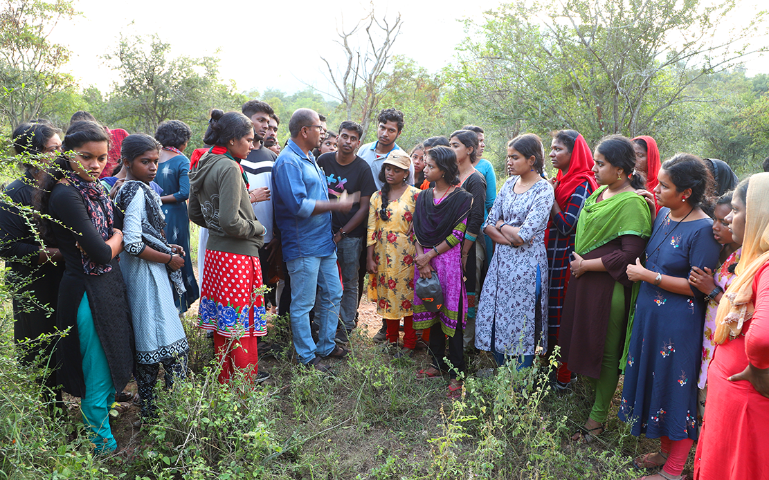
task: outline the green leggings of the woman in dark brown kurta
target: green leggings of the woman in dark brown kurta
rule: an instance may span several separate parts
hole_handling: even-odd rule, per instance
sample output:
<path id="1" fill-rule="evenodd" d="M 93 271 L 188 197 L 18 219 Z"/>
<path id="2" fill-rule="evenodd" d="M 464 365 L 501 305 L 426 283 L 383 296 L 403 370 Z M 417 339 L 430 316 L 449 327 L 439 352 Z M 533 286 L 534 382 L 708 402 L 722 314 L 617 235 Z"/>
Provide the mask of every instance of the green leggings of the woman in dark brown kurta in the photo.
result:
<path id="1" fill-rule="evenodd" d="M 590 418 L 603 423 L 609 414 L 611 398 L 617 390 L 620 381 L 619 362 L 622 355 L 624 340 L 625 315 L 624 286 L 614 283 L 614 293 L 611 294 L 611 310 L 606 329 L 604 343 L 604 359 L 601 361 L 601 375 L 598 379 L 588 379 L 595 388 L 595 401 L 590 412 Z"/>

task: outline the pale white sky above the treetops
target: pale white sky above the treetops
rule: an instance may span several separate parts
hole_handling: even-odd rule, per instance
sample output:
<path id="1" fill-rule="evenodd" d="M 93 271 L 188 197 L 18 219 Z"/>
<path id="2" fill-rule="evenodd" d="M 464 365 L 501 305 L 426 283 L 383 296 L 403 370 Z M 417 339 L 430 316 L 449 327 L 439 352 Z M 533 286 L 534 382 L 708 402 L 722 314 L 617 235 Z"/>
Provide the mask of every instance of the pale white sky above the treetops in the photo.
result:
<path id="1" fill-rule="evenodd" d="M 738 12 L 752 15 L 759 0 L 746 0 Z M 481 20 L 482 12 L 501 0 L 378 0 L 378 16 L 392 19 L 401 12 L 401 35 L 394 54 L 407 55 L 428 71 L 438 71 L 454 61 L 455 46 L 464 38 L 462 18 Z M 82 18 L 58 25 L 54 41 L 68 45 L 72 59 L 68 69 L 83 85 L 108 91 L 117 78 L 101 58 L 117 45 L 119 35 L 148 35 L 157 32 L 172 45 L 171 55 L 202 57 L 215 55 L 220 76 L 232 79 L 238 91 L 278 88 L 292 93 L 311 84 L 330 91 L 324 55 L 332 65 L 344 60 L 335 44 L 341 22 L 351 27 L 370 4 L 364 0 L 283 0 L 245 2 L 180 2 L 179 0 L 132 0 L 118 10 L 116 4 L 77 0 Z M 734 15 L 739 18 L 741 15 Z M 729 22 L 724 22 L 728 24 Z M 360 37 L 362 38 L 362 36 Z M 764 41 L 766 39 L 757 41 Z M 769 59 L 747 62 L 748 74 L 769 72 Z M 302 82 L 305 82 L 303 84 Z"/>

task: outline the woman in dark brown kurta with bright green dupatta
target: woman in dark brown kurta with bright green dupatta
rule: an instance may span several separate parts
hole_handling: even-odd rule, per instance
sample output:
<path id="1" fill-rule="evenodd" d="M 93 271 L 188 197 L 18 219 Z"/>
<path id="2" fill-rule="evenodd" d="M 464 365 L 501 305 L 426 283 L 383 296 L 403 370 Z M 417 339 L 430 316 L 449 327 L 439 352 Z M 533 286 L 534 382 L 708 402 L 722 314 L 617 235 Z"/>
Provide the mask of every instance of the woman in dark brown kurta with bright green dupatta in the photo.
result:
<path id="1" fill-rule="evenodd" d="M 573 440 L 590 441 L 604 431 L 611 397 L 619 381 L 620 357 L 631 306 L 633 283 L 626 268 L 635 263 L 651 233 L 651 210 L 635 193 L 644 180 L 634 171 L 631 142 L 605 137 L 595 149 L 601 185 L 585 201 L 561 316 L 561 358 L 572 372 L 588 376 L 595 402 L 584 428 Z"/>

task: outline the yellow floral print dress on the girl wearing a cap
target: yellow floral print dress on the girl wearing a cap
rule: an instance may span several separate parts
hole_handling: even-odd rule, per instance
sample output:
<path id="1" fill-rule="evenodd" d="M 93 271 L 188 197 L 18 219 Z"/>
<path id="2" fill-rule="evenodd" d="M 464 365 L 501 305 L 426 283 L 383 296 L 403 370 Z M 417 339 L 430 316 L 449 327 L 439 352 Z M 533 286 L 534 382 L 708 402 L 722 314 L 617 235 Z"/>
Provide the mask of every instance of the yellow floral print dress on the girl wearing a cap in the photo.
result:
<path id="1" fill-rule="evenodd" d="M 377 303 L 377 313 L 384 319 L 401 319 L 412 313 L 416 249 L 411 222 L 420 191 L 406 187 L 398 200 L 389 202 L 387 221 L 379 214 L 381 190 L 371 195 L 366 247 L 374 246 L 378 273 L 370 275 L 371 288 L 376 292 L 372 300 Z"/>

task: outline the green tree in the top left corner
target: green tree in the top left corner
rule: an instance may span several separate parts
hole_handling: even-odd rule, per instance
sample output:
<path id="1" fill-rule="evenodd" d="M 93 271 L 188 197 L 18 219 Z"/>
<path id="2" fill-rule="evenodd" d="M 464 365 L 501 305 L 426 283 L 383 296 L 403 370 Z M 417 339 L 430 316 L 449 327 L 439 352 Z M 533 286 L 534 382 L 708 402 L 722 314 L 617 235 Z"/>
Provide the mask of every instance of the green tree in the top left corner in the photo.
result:
<path id="1" fill-rule="evenodd" d="M 49 112 L 53 95 L 71 88 L 60 69 L 69 59 L 65 45 L 49 39 L 58 22 L 78 15 L 71 0 L 5 0 L 0 12 L 0 115 L 18 126 Z"/>

